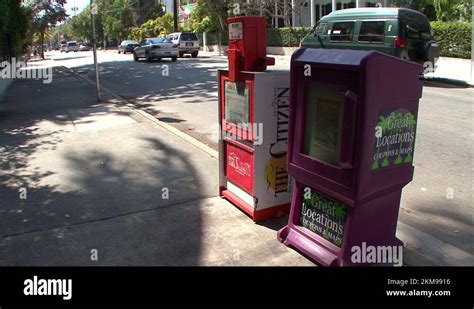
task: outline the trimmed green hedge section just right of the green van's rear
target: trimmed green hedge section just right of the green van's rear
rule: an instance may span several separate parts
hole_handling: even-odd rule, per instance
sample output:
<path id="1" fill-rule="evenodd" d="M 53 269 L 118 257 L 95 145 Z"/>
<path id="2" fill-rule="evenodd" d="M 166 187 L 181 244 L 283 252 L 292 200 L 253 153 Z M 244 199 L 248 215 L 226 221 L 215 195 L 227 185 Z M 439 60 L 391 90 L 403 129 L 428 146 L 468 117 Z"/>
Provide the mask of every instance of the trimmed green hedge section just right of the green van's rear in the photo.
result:
<path id="1" fill-rule="evenodd" d="M 468 22 L 432 22 L 441 57 L 471 58 L 472 25 Z"/>

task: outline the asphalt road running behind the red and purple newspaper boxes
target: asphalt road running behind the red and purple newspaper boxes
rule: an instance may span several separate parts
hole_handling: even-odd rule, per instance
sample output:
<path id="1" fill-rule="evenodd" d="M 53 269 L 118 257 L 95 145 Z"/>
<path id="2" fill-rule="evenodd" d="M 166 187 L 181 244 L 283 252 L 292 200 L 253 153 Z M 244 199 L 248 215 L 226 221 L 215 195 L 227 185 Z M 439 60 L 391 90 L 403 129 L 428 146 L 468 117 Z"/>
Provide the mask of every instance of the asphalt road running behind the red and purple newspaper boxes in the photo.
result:
<path id="1" fill-rule="evenodd" d="M 93 79 L 92 54 L 51 54 L 51 62 Z M 133 62 L 132 55 L 100 52 L 102 85 L 216 148 L 216 69 L 225 57 L 204 55 L 177 62 Z M 288 68 L 288 58 L 277 58 Z M 168 74 L 166 73 L 168 70 Z M 472 88 L 425 82 L 420 102 L 415 178 L 403 191 L 400 220 L 474 254 Z"/>

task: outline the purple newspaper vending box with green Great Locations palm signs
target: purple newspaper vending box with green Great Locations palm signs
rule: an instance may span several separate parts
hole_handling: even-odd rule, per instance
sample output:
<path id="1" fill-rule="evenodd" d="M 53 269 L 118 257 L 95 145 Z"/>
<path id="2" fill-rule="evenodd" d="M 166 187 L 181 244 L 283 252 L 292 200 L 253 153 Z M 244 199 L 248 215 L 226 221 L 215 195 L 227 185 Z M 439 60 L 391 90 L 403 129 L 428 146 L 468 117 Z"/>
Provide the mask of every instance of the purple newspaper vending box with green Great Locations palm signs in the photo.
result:
<path id="1" fill-rule="evenodd" d="M 288 171 L 296 182 L 284 244 L 325 266 L 363 265 L 355 246 L 401 246 L 413 179 L 422 66 L 374 51 L 299 49 L 291 60 Z"/>

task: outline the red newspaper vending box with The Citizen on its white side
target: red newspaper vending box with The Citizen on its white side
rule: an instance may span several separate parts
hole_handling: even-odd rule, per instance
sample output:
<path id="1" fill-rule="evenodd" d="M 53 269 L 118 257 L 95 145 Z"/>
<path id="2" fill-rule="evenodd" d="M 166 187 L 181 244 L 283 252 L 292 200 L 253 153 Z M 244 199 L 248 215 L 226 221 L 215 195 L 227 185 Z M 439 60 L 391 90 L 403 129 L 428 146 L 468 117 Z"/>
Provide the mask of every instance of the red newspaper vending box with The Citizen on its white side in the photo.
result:
<path id="1" fill-rule="evenodd" d="M 220 195 L 254 221 L 289 211 L 288 71 L 269 70 L 263 17 L 229 18 L 229 70 L 219 70 Z"/>

